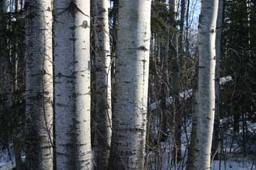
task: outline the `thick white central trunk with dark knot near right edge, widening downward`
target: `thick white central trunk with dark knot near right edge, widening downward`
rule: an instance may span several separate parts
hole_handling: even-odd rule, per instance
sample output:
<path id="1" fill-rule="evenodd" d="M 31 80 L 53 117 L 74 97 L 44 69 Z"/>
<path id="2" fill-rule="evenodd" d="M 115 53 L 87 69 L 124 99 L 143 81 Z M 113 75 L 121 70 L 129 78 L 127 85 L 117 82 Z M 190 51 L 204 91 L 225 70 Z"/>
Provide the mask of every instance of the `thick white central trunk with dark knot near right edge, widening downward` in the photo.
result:
<path id="1" fill-rule="evenodd" d="M 151 1 L 119 0 L 108 169 L 144 169 Z"/>

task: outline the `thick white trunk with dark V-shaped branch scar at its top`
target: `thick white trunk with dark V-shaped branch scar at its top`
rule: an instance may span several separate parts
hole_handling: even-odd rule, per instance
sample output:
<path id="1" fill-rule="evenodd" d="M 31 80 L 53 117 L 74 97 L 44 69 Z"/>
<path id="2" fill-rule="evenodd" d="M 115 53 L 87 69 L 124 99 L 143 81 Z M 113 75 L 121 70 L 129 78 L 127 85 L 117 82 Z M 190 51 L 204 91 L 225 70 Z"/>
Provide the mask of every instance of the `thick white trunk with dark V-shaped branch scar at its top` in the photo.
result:
<path id="1" fill-rule="evenodd" d="M 57 169 L 91 169 L 90 0 L 55 0 Z"/>

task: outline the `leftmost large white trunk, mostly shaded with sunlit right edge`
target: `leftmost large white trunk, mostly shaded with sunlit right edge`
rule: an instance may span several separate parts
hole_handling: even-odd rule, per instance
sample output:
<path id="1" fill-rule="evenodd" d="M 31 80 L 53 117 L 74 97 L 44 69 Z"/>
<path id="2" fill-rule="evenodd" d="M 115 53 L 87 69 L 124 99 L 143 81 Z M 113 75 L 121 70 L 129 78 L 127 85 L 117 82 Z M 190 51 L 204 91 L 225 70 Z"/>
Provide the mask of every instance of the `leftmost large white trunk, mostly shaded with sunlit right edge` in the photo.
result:
<path id="1" fill-rule="evenodd" d="M 53 169 L 51 0 L 26 0 L 27 169 Z"/>

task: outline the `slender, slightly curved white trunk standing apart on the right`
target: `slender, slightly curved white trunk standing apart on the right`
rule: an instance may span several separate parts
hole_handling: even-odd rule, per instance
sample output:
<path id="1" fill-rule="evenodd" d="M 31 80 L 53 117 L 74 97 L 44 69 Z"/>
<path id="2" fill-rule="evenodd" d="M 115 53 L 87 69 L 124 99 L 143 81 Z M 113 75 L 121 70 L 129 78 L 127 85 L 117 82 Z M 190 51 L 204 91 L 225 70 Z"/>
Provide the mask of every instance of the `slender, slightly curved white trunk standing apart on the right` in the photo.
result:
<path id="1" fill-rule="evenodd" d="M 189 169 L 210 169 L 210 149 L 213 137 L 215 114 L 215 28 L 218 1 L 204 0 L 199 18 L 199 71 L 197 111 L 193 124 L 196 132 L 193 145 L 192 167 Z"/>

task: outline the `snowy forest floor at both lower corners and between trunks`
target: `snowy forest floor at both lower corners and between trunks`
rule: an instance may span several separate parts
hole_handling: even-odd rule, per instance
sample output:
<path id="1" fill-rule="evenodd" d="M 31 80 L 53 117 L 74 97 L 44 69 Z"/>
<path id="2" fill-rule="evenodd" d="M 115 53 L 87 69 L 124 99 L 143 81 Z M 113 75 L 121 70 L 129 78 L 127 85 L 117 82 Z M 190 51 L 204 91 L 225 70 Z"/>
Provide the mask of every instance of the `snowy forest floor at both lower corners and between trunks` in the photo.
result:
<path id="1" fill-rule="evenodd" d="M 155 118 L 156 120 L 156 118 Z M 212 170 L 256 170 L 256 159 L 253 153 L 256 152 L 256 123 L 251 123 L 250 121 L 246 122 L 247 125 L 247 141 L 246 141 L 246 149 L 247 155 L 244 156 L 242 152 L 242 148 L 240 147 L 242 144 L 242 139 L 233 140 L 233 128 L 232 128 L 232 118 L 225 118 L 225 120 L 220 120 L 220 125 L 225 126 L 223 137 L 222 147 L 218 148 L 218 155 L 220 155 L 220 151 L 222 150 L 222 160 L 214 160 L 212 163 Z M 176 170 L 185 170 L 186 169 L 186 157 L 188 153 L 188 140 L 191 135 L 191 120 L 186 121 L 186 125 L 183 125 L 182 131 L 182 146 L 181 152 L 183 156 L 183 160 L 177 164 Z M 224 128 L 223 128 L 224 129 Z M 157 130 L 157 121 L 154 121 L 154 137 L 156 137 L 158 133 Z M 242 130 L 241 132 L 242 133 Z M 240 136 L 242 136 L 240 134 Z M 173 148 L 171 137 L 169 136 L 165 142 L 160 142 L 159 150 L 160 151 L 149 151 L 148 152 L 148 167 L 152 170 L 174 170 L 174 163 L 171 162 L 171 152 L 169 152 Z M 161 153 L 161 155 L 159 155 Z M 158 157 L 158 159 L 156 159 Z M 25 156 L 22 157 L 25 160 Z M 0 148 L 0 170 L 11 170 L 15 168 L 15 158 L 12 149 L 1 149 Z M 171 167 L 171 168 L 170 168 Z"/>

